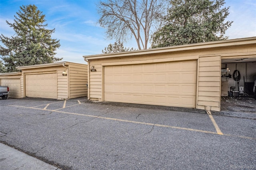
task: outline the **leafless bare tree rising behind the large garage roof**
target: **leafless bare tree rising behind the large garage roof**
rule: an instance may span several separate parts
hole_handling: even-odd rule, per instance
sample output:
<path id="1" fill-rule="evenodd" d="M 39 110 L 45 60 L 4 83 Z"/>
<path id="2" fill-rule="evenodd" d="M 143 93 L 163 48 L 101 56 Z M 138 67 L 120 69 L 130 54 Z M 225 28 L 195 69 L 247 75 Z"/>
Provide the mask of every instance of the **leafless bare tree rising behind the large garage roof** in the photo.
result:
<path id="1" fill-rule="evenodd" d="M 152 29 L 158 26 L 164 0 L 107 0 L 100 1 L 98 23 L 107 28 L 106 37 L 126 41 L 134 37 L 138 49 L 147 49 Z"/>

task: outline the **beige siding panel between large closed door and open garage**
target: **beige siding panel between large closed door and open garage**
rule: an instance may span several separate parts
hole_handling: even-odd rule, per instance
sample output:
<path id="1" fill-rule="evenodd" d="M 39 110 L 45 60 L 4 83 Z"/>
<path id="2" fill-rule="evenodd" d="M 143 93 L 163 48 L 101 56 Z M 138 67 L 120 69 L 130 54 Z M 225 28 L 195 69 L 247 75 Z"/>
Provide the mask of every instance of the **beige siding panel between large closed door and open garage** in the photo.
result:
<path id="1" fill-rule="evenodd" d="M 220 56 L 199 57 L 198 108 L 220 111 Z"/>

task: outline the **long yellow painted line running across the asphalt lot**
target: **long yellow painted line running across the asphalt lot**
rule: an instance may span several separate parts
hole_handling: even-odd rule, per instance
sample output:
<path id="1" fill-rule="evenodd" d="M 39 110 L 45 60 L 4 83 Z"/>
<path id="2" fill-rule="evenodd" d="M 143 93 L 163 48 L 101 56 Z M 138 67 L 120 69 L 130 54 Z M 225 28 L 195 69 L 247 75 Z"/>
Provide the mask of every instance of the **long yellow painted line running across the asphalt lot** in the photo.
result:
<path id="1" fill-rule="evenodd" d="M 76 104 L 76 105 L 79 105 L 79 104 Z M 22 107 L 22 108 L 28 108 L 28 109 L 44 110 L 44 109 L 40 109 L 40 108 L 25 107 L 25 106 L 16 106 L 16 105 L 9 105 L 9 106 Z M 69 106 L 69 107 L 71 107 L 71 106 Z M 223 134 L 222 132 L 220 134 L 218 132 L 211 132 L 211 131 L 206 131 L 206 130 L 198 130 L 198 129 L 184 128 L 184 127 L 174 127 L 174 126 L 170 126 L 170 125 L 160 125 L 160 124 L 137 122 L 137 121 L 128 121 L 128 120 L 124 120 L 124 119 L 115 119 L 115 118 L 101 117 L 101 116 L 94 116 L 94 115 L 84 115 L 84 114 L 80 114 L 80 113 L 70 113 L 70 112 L 57 111 L 57 110 L 48 110 L 48 109 L 46 109 L 46 111 L 54 111 L 54 112 L 57 112 L 57 113 L 65 113 L 65 114 L 70 114 L 70 115 L 79 115 L 79 116 L 93 117 L 93 118 L 106 119 L 106 120 L 112 120 L 112 121 L 121 121 L 121 122 L 135 123 L 135 124 L 141 124 L 141 125 L 151 125 L 151 126 L 156 126 L 156 127 L 175 128 L 175 129 L 180 129 L 180 130 L 189 130 L 189 131 L 194 131 L 194 132 L 203 132 L 203 133 L 218 134 L 218 135 L 223 135 L 223 136 L 230 136 L 230 137 L 238 137 L 238 138 L 246 138 L 246 139 L 250 139 L 250 140 L 256 140 L 256 138 L 249 137 L 249 136 L 240 136 L 240 135 L 234 135 L 234 134 Z"/>

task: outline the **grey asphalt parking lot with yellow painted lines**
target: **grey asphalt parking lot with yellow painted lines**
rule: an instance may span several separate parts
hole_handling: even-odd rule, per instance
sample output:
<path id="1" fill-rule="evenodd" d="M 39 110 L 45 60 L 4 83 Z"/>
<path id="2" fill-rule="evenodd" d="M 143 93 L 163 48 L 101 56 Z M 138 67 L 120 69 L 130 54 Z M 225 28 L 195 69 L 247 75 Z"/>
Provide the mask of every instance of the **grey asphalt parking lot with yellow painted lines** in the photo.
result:
<path id="1" fill-rule="evenodd" d="M 197 110 L 0 100 L 0 141 L 64 170 L 256 168 L 256 120 Z"/>

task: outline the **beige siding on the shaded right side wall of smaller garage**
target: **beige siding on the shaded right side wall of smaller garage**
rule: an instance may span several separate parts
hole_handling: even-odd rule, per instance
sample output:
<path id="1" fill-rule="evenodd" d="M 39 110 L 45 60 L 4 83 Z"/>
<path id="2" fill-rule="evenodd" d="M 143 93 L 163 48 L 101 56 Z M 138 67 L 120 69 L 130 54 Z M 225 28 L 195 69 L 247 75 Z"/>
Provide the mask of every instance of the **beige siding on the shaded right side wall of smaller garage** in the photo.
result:
<path id="1" fill-rule="evenodd" d="M 69 63 L 69 98 L 87 96 L 88 72 L 87 65 Z"/>

